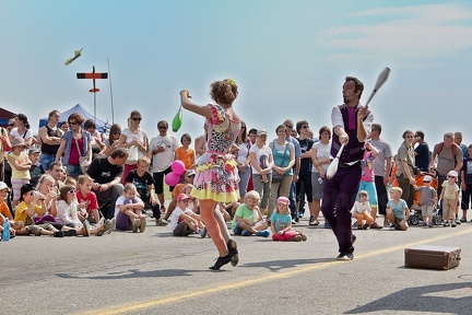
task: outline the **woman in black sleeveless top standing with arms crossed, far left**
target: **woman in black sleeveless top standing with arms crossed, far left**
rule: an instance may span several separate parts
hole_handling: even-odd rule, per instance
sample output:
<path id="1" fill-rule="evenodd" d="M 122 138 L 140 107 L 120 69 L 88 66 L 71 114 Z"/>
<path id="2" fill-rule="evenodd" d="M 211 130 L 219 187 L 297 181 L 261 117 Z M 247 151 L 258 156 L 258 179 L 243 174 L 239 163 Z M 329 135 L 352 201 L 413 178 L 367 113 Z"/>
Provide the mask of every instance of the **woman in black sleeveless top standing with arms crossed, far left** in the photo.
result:
<path id="1" fill-rule="evenodd" d="M 56 161 L 56 154 L 60 147 L 63 132 L 57 124 L 60 119 L 59 110 L 52 110 L 48 115 L 48 124 L 39 128 L 39 139 L 42 142 L 39 163 L 44 171 L 49 171 L 49 165 Z"/>

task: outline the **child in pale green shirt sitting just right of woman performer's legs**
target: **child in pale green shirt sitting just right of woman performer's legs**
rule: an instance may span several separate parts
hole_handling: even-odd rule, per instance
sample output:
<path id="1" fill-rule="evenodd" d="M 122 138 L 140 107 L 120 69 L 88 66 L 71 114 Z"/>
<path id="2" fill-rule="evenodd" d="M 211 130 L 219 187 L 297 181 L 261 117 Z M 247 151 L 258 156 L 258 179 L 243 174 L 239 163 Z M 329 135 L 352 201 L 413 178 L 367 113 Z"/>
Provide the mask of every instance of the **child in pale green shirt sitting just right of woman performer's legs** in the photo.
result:
<path id="1" fill-rule="evenodd" d="M 258 235 L 268 237 L 270 235 L 267 222 L 263 220 L 259 210 L 260 195 L 256 190 L 248 191 L 245 202 L 241 203 L 233 218 L 232 229 L 236 235 L 250 236 Z"/>

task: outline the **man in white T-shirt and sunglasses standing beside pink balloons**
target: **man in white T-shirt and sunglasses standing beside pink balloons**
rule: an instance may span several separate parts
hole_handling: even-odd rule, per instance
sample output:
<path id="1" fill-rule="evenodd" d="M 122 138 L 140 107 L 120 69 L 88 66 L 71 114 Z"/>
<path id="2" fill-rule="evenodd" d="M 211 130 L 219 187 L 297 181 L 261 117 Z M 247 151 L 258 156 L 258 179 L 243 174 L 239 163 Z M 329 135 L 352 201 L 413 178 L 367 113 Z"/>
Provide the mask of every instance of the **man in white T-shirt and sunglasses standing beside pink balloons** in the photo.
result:
<path id="1" fill-rule="evenodd" d="M 160 135 L 151 139 L 149 152 L 149 158 L 153 159 L 154 189 L 161 203 L 161 212 L 165 212 L 164 176 L 172 172 L 170 165 L 175 160 L 175 150 L 178 148 L 177 138 L 168 135 L 167 129 L 167 121 L 161 120 L 157 122 Z M 172 190 L 173 187 L 170 187 Z"/>

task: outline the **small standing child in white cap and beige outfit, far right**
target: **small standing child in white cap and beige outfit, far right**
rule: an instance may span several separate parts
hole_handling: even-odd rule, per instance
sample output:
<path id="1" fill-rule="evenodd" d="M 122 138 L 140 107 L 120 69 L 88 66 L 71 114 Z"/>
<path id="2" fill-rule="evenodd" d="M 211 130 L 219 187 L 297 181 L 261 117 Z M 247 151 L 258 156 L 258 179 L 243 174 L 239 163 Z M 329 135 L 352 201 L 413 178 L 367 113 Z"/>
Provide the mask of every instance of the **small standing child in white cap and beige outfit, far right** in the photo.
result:
<path id="1" fill-rule="evenodd" d="M 459 202 L 459 186 L 456 184 L 457 172 L 450 171 L 447 179 L 441 185 L 440 198 L 442 199 L 442 220 L 444 226 L 456 228 L 456 209 Z"/>

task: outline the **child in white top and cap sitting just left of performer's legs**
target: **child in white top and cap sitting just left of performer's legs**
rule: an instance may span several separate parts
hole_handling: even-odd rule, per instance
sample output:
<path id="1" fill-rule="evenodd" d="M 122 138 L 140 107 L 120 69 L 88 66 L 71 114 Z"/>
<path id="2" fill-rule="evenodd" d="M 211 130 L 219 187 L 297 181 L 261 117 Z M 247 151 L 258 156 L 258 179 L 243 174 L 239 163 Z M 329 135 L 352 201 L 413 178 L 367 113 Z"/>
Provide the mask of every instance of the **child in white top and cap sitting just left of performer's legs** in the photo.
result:
<path id="1" fill-rule="evenodd" d="M 187 194 L 177 195 L 177 207 L 170 218 L 170 232 L 174 236 L 188 236 L 193 232 L 200 234 L 202 238 L 206 236 L 206 228 L 201 221 L 201 217 L 189 208 L 192 199 Z"/>

